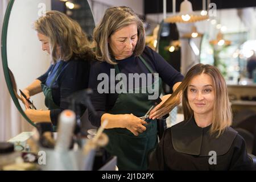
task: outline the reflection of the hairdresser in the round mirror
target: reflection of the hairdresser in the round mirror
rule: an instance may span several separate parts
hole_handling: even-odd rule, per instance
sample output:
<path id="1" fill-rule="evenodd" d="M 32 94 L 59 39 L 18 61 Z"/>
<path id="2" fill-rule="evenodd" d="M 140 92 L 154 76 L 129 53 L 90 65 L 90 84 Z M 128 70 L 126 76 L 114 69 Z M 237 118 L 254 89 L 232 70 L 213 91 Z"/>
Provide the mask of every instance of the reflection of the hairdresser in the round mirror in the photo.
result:
<path id="1" fill-rule="evenodd" d="M 30 109 L 22 97 L 25 113 L 32 122 L 51 122 L 56 126 L 58 115 L 69 107 L 65 98 L 88 88 L 90 61 L 94 56 L 80 25 L 59 11 L 48 11 L 34 22 L 34 29 L 42 50 L 51 56 L 51 65 L 22 92 L 27 99 L 43 92 L 48 110 Z"/>

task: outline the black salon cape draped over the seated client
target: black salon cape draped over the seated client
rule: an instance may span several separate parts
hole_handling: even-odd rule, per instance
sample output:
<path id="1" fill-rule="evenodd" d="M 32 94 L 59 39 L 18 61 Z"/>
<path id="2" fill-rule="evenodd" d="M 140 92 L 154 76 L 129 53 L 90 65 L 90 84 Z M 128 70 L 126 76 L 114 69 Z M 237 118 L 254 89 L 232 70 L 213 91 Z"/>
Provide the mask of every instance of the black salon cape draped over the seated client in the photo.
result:
<path id="1" fill-rule="evenodd" d="M 210 137 L 210 126 L 201 128 L 191 119 L 168 128 L 151 154 L 149 169 L 251 170 L 245 140 L 231 127 L 217 139 Z M 216 164 L 210 151 L 216 152 Z"/>

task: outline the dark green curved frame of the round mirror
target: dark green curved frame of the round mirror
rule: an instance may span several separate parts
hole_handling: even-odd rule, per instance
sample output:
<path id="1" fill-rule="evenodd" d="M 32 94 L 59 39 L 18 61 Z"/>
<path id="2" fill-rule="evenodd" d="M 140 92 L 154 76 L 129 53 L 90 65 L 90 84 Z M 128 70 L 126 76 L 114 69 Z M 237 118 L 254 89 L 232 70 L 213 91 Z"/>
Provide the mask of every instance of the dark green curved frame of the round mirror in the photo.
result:
<path id="1" fill-rule="evenodd" d="M 11 14 L 11 9 L 13 8 L 13 4 L 14 4 L 15 0 L 10 0 L 7 9 L 6 9 L 6 13 L 5 13 L 5 18 L 3 19 L 3 27 L 2 27 L 2 42 L 1 42 L 1 51 L 2 51 L 2 65 L 3 65 L 3 73 L 5 75 L 5 81 L 7 84 L 7 88 L 9 90 L 9 93 L 11 95 L 11 98 L 14 101 L 15 106 L 17 107 L 17 109 L 19 110 L 20 114 L 22 114 L 22 116 L 32 125 L 35 126 L 35 123 L 32 122 L 27 115 L 24 113 L 22 107 L 19 104 L 18 98 L 16 98 L 14 90 L 13 90 L 13 83 L 11 82 L 11 77 L 10 77 L 10 73 L 9 73 L 9 67 L 8 67 L 8 63 L 7 63 L 7 30 L 8 30 L 8 24 L 9 24 L 9 18 L 10 18 L 10 14 Z"/>

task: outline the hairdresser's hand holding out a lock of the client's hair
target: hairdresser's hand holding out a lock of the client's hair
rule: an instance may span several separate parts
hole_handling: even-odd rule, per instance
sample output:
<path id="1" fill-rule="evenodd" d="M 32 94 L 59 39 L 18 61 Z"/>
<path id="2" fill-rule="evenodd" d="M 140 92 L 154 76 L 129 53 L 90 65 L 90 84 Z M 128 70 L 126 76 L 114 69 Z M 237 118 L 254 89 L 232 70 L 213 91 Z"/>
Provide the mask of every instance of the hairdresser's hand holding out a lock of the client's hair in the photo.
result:
<path id="1" fill-rule="evenodd" d="M 170 111 L 174 109 L 175 106 L 179 105 L 179 97 L 168 100 L 169 97 L 171 97 L 171 94 L 162 97 L 162 102 L 160 102 L 160 104 L 156 105 L 154 109 L 151 110 L 149 117 L 150 119 L 162 118 L 164 115 L 170 113 Z"/>

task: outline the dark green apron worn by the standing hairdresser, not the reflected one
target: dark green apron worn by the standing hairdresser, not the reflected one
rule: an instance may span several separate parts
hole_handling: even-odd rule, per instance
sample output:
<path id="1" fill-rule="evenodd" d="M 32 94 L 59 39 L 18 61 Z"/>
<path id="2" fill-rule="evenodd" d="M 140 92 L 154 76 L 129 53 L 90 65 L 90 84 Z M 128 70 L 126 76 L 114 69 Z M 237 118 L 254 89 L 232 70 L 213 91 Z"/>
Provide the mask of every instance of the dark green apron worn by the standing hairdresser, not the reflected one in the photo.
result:
<path id="1" fill-rule="evenodd" d="M 143 57 L 139 56 L 141 61 L 146 65 L 148 71 L 154 76 L 154 72 Z M 119 73 L 119 68 L 115 66 L 115 72 Z M 154 83 L 150 86 L 154 88 L 155 83 L 159 81 L 159 96 L 161 94 L 161 79 L 154 79 Z M 136 89 L 146 89 L 147 86 L 141 88 L 135 88 L 129 93 L 118 94 L 117 101 L 111 110 L 108 111 L 110 114 L 131 114 L 133 113 L 137 117 L 142 117 L 147 113 L 152 105 L 154 105 L 154 100 L 149 100 L 149 93 L 140 92 L 135 93 Z M 159 97 L 158 96 L 158 97 Z M 147 170 L 147 160 L 148 154 L 154 150 L 156 144 L 158 144 L 157 138 L 157 123 L 156 119 L 151 120 L 146 119 L 148 122 L 146 126 L 146 131 L 139 133 L 135 136 L 130 130 L 122 128 L 105 129 L 104 132 L 109 137 L 108 146 L 106 150 L 117 156 L 117 167 L 119 170 Z"/>

